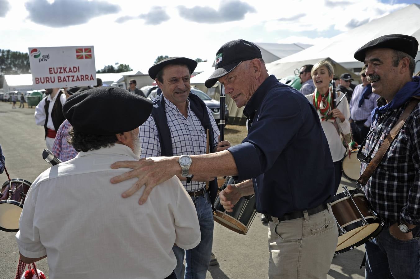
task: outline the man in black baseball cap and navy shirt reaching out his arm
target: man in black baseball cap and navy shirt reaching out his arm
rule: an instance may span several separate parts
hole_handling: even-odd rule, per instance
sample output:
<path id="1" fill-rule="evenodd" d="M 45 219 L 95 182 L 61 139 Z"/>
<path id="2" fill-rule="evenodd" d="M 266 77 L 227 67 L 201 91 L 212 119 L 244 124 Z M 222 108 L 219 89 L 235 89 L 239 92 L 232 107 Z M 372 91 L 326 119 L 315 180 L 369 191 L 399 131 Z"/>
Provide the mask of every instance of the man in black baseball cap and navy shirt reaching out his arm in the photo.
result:
<path id="1" fill-rule="evenodd" d="M 315 107 L 298 90 L 268 75 L 255 44 L 230 41 L 216 54 L 215 71 L 205 85 L 210 88 L 219 80 L 236 106 L 245 106 L 248 136 L 228 150 L 191 156 L 188 173 L 239 175 L 243 182 L 220 192 L 229 211 L 241 196 L 256 195 L 258 212 L 269 220 L 270 278 L 325 278 L 338 230 L 329 204 L 335 194 L 334 166 Z M 112 182 L 139 177 L 123 196 L 145 184 L 142 203 L 160 180 L 181 174 L 180 158 L 117 162 L 111 167 L 135 170 Z M 142 175 L 145 170 L 149 176 Z"/>

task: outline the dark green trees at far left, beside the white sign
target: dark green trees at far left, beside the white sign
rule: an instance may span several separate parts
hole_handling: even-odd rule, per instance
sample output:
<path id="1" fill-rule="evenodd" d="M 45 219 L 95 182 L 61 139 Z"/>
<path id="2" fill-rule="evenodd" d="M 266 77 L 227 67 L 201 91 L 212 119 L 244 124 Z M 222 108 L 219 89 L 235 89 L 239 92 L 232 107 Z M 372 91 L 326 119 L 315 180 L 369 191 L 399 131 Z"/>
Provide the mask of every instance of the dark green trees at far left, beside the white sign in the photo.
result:
<path id="1" fill-rule="evenodd" d="M 0 49 L 0 88 L 3 87 L 4 75 L 29 74 L 29 54 Z"/>

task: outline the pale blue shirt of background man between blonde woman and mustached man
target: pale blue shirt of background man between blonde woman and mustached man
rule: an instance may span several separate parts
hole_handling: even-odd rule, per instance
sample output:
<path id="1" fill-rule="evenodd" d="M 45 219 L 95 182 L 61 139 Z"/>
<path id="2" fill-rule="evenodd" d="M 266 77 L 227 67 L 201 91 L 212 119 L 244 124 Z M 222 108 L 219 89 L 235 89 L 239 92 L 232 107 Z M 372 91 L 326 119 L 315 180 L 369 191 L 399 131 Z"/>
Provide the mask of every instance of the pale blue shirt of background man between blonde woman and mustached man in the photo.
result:
<path id="1" fill-rule="evenodd" d="M 379 98 L 375 93 L 371 93 L 369 99 L 365 99 L 362 106 L 359 108 L 359 101 L 362 97 L 363 85 L 356 85 L 353 91 L 352 100 L 350 101 L 350 118 L 354 121 L 365 120 L 365 126 L 370 127 L 372 124 L 372 111 L 376 108 L 376 99 Z"/>

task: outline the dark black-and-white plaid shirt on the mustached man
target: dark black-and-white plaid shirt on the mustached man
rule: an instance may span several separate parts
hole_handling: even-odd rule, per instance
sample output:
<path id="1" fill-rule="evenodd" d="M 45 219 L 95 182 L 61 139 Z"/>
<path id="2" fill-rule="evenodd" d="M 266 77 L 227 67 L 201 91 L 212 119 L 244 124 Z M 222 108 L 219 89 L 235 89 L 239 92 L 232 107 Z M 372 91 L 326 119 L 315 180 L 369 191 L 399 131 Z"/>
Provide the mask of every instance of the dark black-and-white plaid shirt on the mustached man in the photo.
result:
<path id="1" fill-rule="evenodd" d="M 373 121 L 365 155 L 373 158 L 399 116 L 407 107 L 389 110 Z M 372 131 L 372 130 L 371 130 Z M 361 172 L 367 163 L 362 163 Z M 420 104 L 415 106 L 381 163 L 365 185 L 365 194 L 381 217 L 420 224 Z"/>

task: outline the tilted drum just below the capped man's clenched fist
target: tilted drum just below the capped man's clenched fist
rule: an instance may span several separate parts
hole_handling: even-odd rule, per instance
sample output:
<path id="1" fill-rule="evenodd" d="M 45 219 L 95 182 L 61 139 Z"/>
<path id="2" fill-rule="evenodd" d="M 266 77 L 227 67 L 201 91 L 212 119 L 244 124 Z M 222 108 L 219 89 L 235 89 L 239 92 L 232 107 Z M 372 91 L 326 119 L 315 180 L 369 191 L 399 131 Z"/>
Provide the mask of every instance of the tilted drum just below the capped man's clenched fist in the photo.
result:
<path id="1" fill-rule="evenodd" d="M 231 176 L 226 178 L 222 189 L 225 189 L 229 184 L 235 184 L 235 181 Z M 255 195 L 241 197 L 235 204 L 233 212 L 227 212 L 223 208 L 223 205 L 220 204 L 219 196 L 216 197 L 214 207 L 216 209 L 213 213 L 215 222 L 218 222 L 220 225 L 241 235 L 247 234 L 252 220 L 254 220 L 255 215 L 257 214 L 257 209 L 255 208 Z"/>

